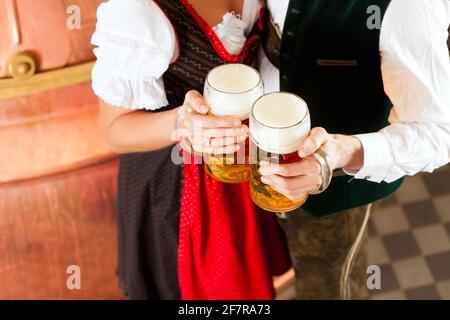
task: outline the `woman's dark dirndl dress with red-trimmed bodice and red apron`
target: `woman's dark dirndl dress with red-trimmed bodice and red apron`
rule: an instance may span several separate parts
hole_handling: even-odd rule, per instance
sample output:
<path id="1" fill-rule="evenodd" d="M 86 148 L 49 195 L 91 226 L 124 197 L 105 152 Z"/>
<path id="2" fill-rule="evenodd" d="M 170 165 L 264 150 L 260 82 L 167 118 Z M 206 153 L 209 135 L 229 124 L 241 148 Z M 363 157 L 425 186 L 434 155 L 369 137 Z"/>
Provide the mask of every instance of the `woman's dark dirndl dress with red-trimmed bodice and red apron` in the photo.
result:
<path id="1" fill-rule="evenodd" d="M 150 0 L 149 0 L 150 1 Z M 203 91 L 209 70 L 255 64 L 258 28 L 231 56 L 186 0 L 155 0 L 180 55 L 164 74 L 169 106 Z M 272 299 L 272 276 L 290 267 L 276 217 L 257 209 L 248 184 L 223 184 L 203 165 L 177 165 L 172 147 L 121 156 L 119 275 L 131 299 Z"/>

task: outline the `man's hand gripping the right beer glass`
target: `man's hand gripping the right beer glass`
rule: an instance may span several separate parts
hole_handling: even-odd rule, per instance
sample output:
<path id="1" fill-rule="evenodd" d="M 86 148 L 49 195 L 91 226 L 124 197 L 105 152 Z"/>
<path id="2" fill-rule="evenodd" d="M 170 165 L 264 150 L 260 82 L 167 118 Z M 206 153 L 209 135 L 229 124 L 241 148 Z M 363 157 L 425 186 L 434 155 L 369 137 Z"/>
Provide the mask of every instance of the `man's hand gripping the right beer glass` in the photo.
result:
<path id="1" fill-rule="evenodd" d="M 302 160 L 290 164 L 261 162 L 261 181 L 289 199 L 304 199 L 322 184 L 321 165 L 312 156 L 319 148 L 328 155 L 331 170 L 357 171 L 363 165 L 364 154 L 358 138 L 330 135 L 323 128 L 314 128 L 298 151 Z"/>

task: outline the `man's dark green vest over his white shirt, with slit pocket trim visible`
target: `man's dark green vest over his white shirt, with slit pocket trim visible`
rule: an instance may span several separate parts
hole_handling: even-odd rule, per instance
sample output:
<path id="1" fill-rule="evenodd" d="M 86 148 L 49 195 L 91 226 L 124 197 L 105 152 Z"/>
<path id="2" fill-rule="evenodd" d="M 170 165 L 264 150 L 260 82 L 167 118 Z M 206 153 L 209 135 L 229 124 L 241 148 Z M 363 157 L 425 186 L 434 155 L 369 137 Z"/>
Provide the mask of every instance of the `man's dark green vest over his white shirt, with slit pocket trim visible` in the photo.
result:
<path id="1" fill-rule="evenodd" d="M 392 103 L 383 89 L 380 29 L 369 29 L 371 5 L 383 19 L 390 0 L 291 0 L 281 44 L 281 90 L 307 103 L 313 127 L 361 134 L 386 127 Z M 372 20 L 370 20 L 372 22 Z M 302 207 L 325 216 L 394 192 L 402 179 L 374 183 L 336 177 Z"/>

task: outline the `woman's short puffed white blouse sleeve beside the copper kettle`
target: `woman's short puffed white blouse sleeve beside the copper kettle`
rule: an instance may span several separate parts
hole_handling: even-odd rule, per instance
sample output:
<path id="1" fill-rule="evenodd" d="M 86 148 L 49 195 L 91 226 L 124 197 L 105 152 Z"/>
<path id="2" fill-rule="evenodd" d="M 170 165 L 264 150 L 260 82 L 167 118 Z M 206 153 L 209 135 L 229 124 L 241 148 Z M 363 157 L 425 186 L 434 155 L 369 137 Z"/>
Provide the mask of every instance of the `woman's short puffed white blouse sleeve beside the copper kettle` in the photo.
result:
<path id="1" fill-rule="evenodd" d="M 153 1 L 101 4 L 91 43 L 92 88 L 103 101 L 128 109 L 168 105 L 162 76 L 177 55 L 176 34 Z"/>

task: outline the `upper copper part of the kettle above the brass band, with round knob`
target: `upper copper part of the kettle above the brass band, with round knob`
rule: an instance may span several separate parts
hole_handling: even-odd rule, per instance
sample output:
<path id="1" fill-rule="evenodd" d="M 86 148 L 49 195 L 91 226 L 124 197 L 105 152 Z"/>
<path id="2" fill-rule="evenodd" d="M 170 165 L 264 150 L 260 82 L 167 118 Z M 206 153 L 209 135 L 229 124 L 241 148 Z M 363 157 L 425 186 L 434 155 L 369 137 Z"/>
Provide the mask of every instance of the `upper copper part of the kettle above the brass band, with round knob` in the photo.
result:
<path id="1" fill-rule="evenodd" d="M 35 73 L 94 59 L 89 38 L 103 0 L 1 0 L 0 78 L 26 79 Z M 79 9 L 80 29 L 67 27 Z"/>

